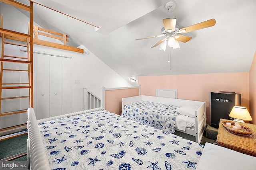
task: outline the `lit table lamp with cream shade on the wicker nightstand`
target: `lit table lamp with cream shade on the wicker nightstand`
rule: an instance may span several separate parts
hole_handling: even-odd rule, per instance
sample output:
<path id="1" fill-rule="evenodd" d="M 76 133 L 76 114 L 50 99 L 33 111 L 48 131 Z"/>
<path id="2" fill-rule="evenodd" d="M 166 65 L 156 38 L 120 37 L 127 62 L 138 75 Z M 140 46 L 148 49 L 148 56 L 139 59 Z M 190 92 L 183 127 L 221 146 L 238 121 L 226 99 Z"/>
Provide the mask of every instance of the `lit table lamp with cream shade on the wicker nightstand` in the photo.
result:
<path id="1" fill-rule="evenodd" d="M 252 117 L 246 107 L 234 106 L 230 111 L 229 117 L 234 118 L 233 121 L 244 123 L 245 121 L 252 121 Z"/>

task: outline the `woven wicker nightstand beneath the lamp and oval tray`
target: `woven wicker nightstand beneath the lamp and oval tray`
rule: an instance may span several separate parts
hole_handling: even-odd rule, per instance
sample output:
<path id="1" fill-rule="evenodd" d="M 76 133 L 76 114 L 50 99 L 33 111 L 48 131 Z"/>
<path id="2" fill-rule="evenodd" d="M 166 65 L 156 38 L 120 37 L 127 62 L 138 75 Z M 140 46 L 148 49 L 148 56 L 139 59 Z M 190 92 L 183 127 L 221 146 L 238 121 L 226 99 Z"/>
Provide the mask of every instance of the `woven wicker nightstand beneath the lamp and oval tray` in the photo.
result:
<path id="1" fill-rule="evenodd" d="M 226 121 L 226 119 L 220 119 L 217 136 L 218 145 L 256 157 L 256 125 L 240 123 L 241 125 L 250 127 L 254 131 L 250 136 L 240 136 L 224 129 L 221 121 Z"/>

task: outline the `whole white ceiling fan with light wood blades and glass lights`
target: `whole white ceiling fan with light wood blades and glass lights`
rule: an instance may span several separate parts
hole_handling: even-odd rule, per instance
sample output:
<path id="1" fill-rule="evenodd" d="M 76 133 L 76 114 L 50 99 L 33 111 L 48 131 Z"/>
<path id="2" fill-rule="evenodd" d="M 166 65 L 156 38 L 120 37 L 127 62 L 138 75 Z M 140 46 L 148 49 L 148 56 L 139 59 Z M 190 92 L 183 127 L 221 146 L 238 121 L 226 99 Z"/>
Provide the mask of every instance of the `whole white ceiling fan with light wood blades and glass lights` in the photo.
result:
<path id="1" fill-rule="evenodd" d="M 176 7 L 176 2 L 174 0 L 166 3 L 165 8 L 166 8 L 166 10 L 169 11 L 169 16 L 170 16 L 170 12 L 173 11 L 175 9 L 175 7 Z M 216 20 L 211 19 L 211 20 L 203 21 L 201 23 L 197 23 L 195 25 L 191 25 L 191 26 L 188 26 L 188 27 L 185 27 L 185 28 L 182 28 L 182 29 L 178 28 L 178 25 L 176 23 L 176 18 L 163 19 L 163 23 L 164 23 L 164 27 L 161 30 L 162 31 L 161 35 L 139 38 L 139 39 L 136 39 L 136 40 L 165 36 L 163 39 L 158 41 L 153 47 L 156 47 L 156 46 L 161 44 L 159 49 L 165 51 L 167 43 L 168 43 L 169 47 L 172 47 L 173 49 L 176 49 L 176 48 L 180 48 L 180 45 L 179 45 L 178 41 L 186 43 L 190 39 L 192 39 L 192 37 L 182 35 L 183 33 L 188 33 L 188 32 L 191 32 L 191 31 L 198 30 L 198 29 L 212 27 L 212 26 L 215 25 Z M 153 47 L 151 47 L 151 48 L 153 48 Z"/>

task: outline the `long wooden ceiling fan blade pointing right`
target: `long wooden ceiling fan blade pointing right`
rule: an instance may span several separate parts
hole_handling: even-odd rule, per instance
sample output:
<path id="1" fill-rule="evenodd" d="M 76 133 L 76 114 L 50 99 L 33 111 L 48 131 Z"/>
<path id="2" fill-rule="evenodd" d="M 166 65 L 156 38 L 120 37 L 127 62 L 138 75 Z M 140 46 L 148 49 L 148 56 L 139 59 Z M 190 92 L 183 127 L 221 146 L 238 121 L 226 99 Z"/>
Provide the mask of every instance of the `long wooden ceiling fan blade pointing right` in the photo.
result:
<path id="1" fill-rule="evenodd" d="M 204 22 L 201 22 L 201 23 L 197 23 L 195 25 L 191 25 L 189 27 L 182 28 L 182 29 L 179 30 L 178 33 L 188 33 L 188 32 L 191 32 L 191 31 L 198 30 L 198 29 L 212 27 L 212 26 L 215 25 L 215 23 L 216 23 L 215 19 L 207 20 L 207 21 L 204 21 Z"/>

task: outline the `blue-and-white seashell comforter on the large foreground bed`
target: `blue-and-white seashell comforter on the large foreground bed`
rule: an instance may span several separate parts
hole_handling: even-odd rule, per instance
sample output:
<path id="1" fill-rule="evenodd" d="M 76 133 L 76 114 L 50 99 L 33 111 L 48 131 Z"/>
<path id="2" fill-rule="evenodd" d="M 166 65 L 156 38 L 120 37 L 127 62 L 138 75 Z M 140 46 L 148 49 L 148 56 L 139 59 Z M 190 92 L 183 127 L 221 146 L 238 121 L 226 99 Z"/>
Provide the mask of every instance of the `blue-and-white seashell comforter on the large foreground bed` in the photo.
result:
<path id="1" fill-rule="evenodd" d="M 204 147 L 106 110 L 38 126 L 52 170 L 196 169 Z"/>

